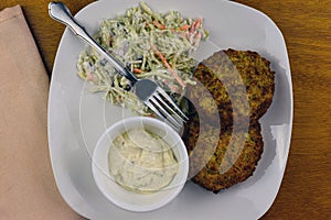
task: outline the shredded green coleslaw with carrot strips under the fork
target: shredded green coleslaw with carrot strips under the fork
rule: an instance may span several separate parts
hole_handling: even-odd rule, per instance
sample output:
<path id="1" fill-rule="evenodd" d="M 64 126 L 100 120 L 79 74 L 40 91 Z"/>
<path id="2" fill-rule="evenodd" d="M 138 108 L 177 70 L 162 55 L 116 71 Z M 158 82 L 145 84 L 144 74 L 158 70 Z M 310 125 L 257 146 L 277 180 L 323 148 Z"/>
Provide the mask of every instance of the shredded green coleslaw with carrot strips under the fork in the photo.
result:
<path id="1" fill-rule="evenodd" d="M 149 78 L 171 92 L 182 94 L 193 85 L 196 62 L 192 53 L 207 37 L 202 19 L 183 18 L 178 11 L 157 13 L 145 2 L 128 9 L 125 14 L 103 21 L 95 40 L 115 55 L 139 79 Z M 87 48 L 81 53 L 77 74 L 93 85 L 92 91 L 105 92 L 105 99 L 139 114 L 151 111 L 130 92 L 130 81 Z"/>

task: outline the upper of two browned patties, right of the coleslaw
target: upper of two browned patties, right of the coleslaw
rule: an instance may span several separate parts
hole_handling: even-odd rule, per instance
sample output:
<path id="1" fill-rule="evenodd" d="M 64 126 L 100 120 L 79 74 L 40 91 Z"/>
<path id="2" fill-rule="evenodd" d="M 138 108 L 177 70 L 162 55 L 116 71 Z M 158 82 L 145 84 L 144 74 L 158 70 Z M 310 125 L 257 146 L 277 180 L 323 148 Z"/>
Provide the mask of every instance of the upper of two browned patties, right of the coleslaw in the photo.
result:
<path id="1" fill-rule="evenodd" d="M 199 64 L 194 77 L 212 94 L 224 127 L 234 120 L 237 124 L 246 118 L 257 120 L 266 113 L 275 91 L 275 73 L 269 65 L 256 52 L 235 50 L 220 51 Z M 190 87 L 188 97 L 197 98 L 201 112 L 211 116 L 205 96 Z"/>

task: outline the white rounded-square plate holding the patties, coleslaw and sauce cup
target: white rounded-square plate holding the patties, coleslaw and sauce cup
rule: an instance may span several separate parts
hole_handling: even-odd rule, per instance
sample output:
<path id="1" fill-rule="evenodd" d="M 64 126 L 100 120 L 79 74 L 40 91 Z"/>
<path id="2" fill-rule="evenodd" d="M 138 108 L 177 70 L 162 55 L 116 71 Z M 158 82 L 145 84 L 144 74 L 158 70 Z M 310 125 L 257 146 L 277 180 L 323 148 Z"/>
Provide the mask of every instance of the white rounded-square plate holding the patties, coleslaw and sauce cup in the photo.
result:
<path id="1" fill-rule="evenodd" d="M 76 14 L 89 33 L 105 18 L 124 13 L 139 0 L 102 0 Z M 108 202 L 92 176 L 90 153 L 105 128 L 127 114 L 88 92 L 76 76 L 78 54 L 85 45 L 66 30 L 54 64 L 49 100 L 49 142 L 53 172 L 65 201 L 88 219 L 258 219 L 274 202 L 286 167 L 292 127 L 292 85 L 281 32 L 264 13 L 231 1 L 147 1 L 156 11 L 179 10 L 204 18 L 210 40 L 221 48 L 252 50 L 271 62 L 276 72 L 274 102 L 260 120 L 265 150 L 246 182 L 218 195 L 188 183 L 170 205 L 147 213 L 128 212 Z M 127 114 L 129 116 L 129 114 Z"/>

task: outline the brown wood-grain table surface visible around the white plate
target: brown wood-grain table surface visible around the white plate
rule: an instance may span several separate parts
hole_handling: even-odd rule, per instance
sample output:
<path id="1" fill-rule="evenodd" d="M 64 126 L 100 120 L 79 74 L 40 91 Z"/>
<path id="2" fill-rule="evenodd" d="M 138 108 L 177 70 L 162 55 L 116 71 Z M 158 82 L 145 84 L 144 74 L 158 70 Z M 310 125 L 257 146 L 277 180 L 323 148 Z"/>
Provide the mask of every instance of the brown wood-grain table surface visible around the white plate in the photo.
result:
<path id="1" fill-rule="evenodd" d="M 64 0 L 75 14 L 92 0 Z M 282 31 L 290 57 L 295 121 L 281 188 L 263 219 L 331 218 L 331 1 L 238 0 L 268 14 Z M 64 26 L 47 14 L 44 0 L 20 3 L 49 73 Z"/>

